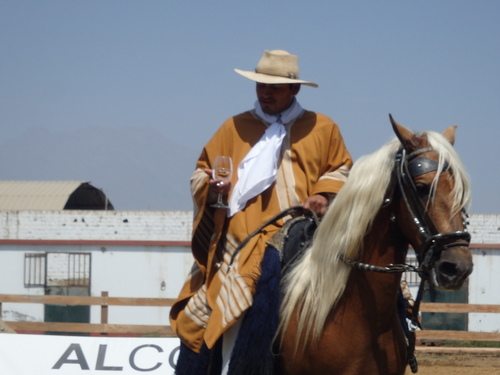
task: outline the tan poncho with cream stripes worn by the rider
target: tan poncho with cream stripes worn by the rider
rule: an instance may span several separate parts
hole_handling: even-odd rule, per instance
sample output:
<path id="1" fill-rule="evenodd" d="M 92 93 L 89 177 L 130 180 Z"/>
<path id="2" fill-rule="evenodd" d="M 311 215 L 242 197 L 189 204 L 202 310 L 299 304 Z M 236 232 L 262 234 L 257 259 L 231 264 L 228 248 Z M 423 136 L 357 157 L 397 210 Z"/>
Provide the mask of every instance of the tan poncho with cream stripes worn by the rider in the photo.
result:
<path id="1" fill-rule="evenodd" d="M 337 125 L 314 112 L 286 124 L 276 182 L 249 200 L 244 210 L 226 217 L 226 210 L 207 204 L 208 176 L 217 155 L 229 155 L 236 167 L 260 139 L 266 124 L 245 112 L 227 120 L 205 146 L 191 178 L 194 200 L 193 269 L 172 307 L 170 321 L 181 340 L 198 352 L 203 341 L 212 348 L 253 301 L 259 265 L 266 241 L 283 225 L 266 227 L 236 256 L 231 257 L 247 236 L 263 222 L 317 193 L 337 193 L 347 177 L 352 160 Z M 237 173 L 233 173 L 234 186 Z"/>

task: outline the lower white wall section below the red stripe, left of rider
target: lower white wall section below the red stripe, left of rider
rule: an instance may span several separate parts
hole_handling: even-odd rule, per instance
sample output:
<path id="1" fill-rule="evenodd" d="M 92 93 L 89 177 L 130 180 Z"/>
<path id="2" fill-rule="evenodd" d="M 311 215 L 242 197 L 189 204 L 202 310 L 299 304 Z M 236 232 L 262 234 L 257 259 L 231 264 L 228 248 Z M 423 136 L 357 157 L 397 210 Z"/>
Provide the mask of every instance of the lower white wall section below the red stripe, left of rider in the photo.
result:
<path id="1" fill-rule="evenodd" d="M 24 254 L 36 252 L 88 252 L 91 253 L 91 295 L 102 291 L 110 297 L 175 298 L 191 269 L 192 256 L 188 247 L 169 246 L 47 246 L 0 245 L 1 294 L 43 295 L 42 287 L 24 287 Z M 165 288 L 162 290 L 162 281 Z M 2 305 L 5 320 L 43 321 L 43 305 Z M 168 307 L 110 306 L 109 323 L 112 324 L 169 324 Z M 91 308 L 91 323 L 100 323 L 100 307 Z"/>

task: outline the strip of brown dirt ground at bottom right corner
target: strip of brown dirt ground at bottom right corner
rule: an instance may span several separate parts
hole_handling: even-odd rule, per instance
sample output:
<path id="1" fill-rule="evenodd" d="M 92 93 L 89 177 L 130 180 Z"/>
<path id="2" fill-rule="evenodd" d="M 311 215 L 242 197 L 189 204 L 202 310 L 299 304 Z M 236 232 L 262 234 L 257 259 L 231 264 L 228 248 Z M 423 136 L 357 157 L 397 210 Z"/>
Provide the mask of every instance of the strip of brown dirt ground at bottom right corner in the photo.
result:
<path id="1" fill-rule="evenodd" d="M 417 375 L 500 374 L 499 353 L 417 353 Z M 412 374 L 408 368 L 405 375 Z"/>

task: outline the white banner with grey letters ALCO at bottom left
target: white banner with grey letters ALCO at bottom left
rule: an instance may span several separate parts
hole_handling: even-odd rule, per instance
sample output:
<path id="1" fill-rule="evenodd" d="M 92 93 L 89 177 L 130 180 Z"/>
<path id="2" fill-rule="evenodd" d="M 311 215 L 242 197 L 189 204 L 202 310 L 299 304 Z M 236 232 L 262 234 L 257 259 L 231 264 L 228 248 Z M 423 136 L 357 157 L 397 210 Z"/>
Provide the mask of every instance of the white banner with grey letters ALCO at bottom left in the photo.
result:
<path id="1" fill-rule="evenodd" d="M 174 374 L 177 338 L 0 334 L 0 374 Z"/>

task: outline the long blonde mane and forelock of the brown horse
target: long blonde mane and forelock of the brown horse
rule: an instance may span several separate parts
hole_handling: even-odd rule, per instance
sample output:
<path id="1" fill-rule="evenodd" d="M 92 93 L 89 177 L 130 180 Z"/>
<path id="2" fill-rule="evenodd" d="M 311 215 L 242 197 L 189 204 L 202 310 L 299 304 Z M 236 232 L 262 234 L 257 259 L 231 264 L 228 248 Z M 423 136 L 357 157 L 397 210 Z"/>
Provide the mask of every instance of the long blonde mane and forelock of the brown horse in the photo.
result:
<path id="1" fill-rule="evenodd" d="M 426 136 L 439 153 L 438 172 L 447 163 L 453 174 L 453 209 L 467 206 L 469 180 L 452 145 L 435 132 L 418 136 Z M 284 336 L 296 311 L 297 347 L 299 341 L 305 345 L 320 338 L 329 312 L 341 298 L 351 271 L 341 257 L 357 259 L 363 250 L 363 237 L 381 208 L 400 146 L 395 138 L 354 164 L 346 184 L 323 217 L 313 245 L 284 278 L 279 333 Z M 435 180 L 433 186 L 436 183 Z"/>

